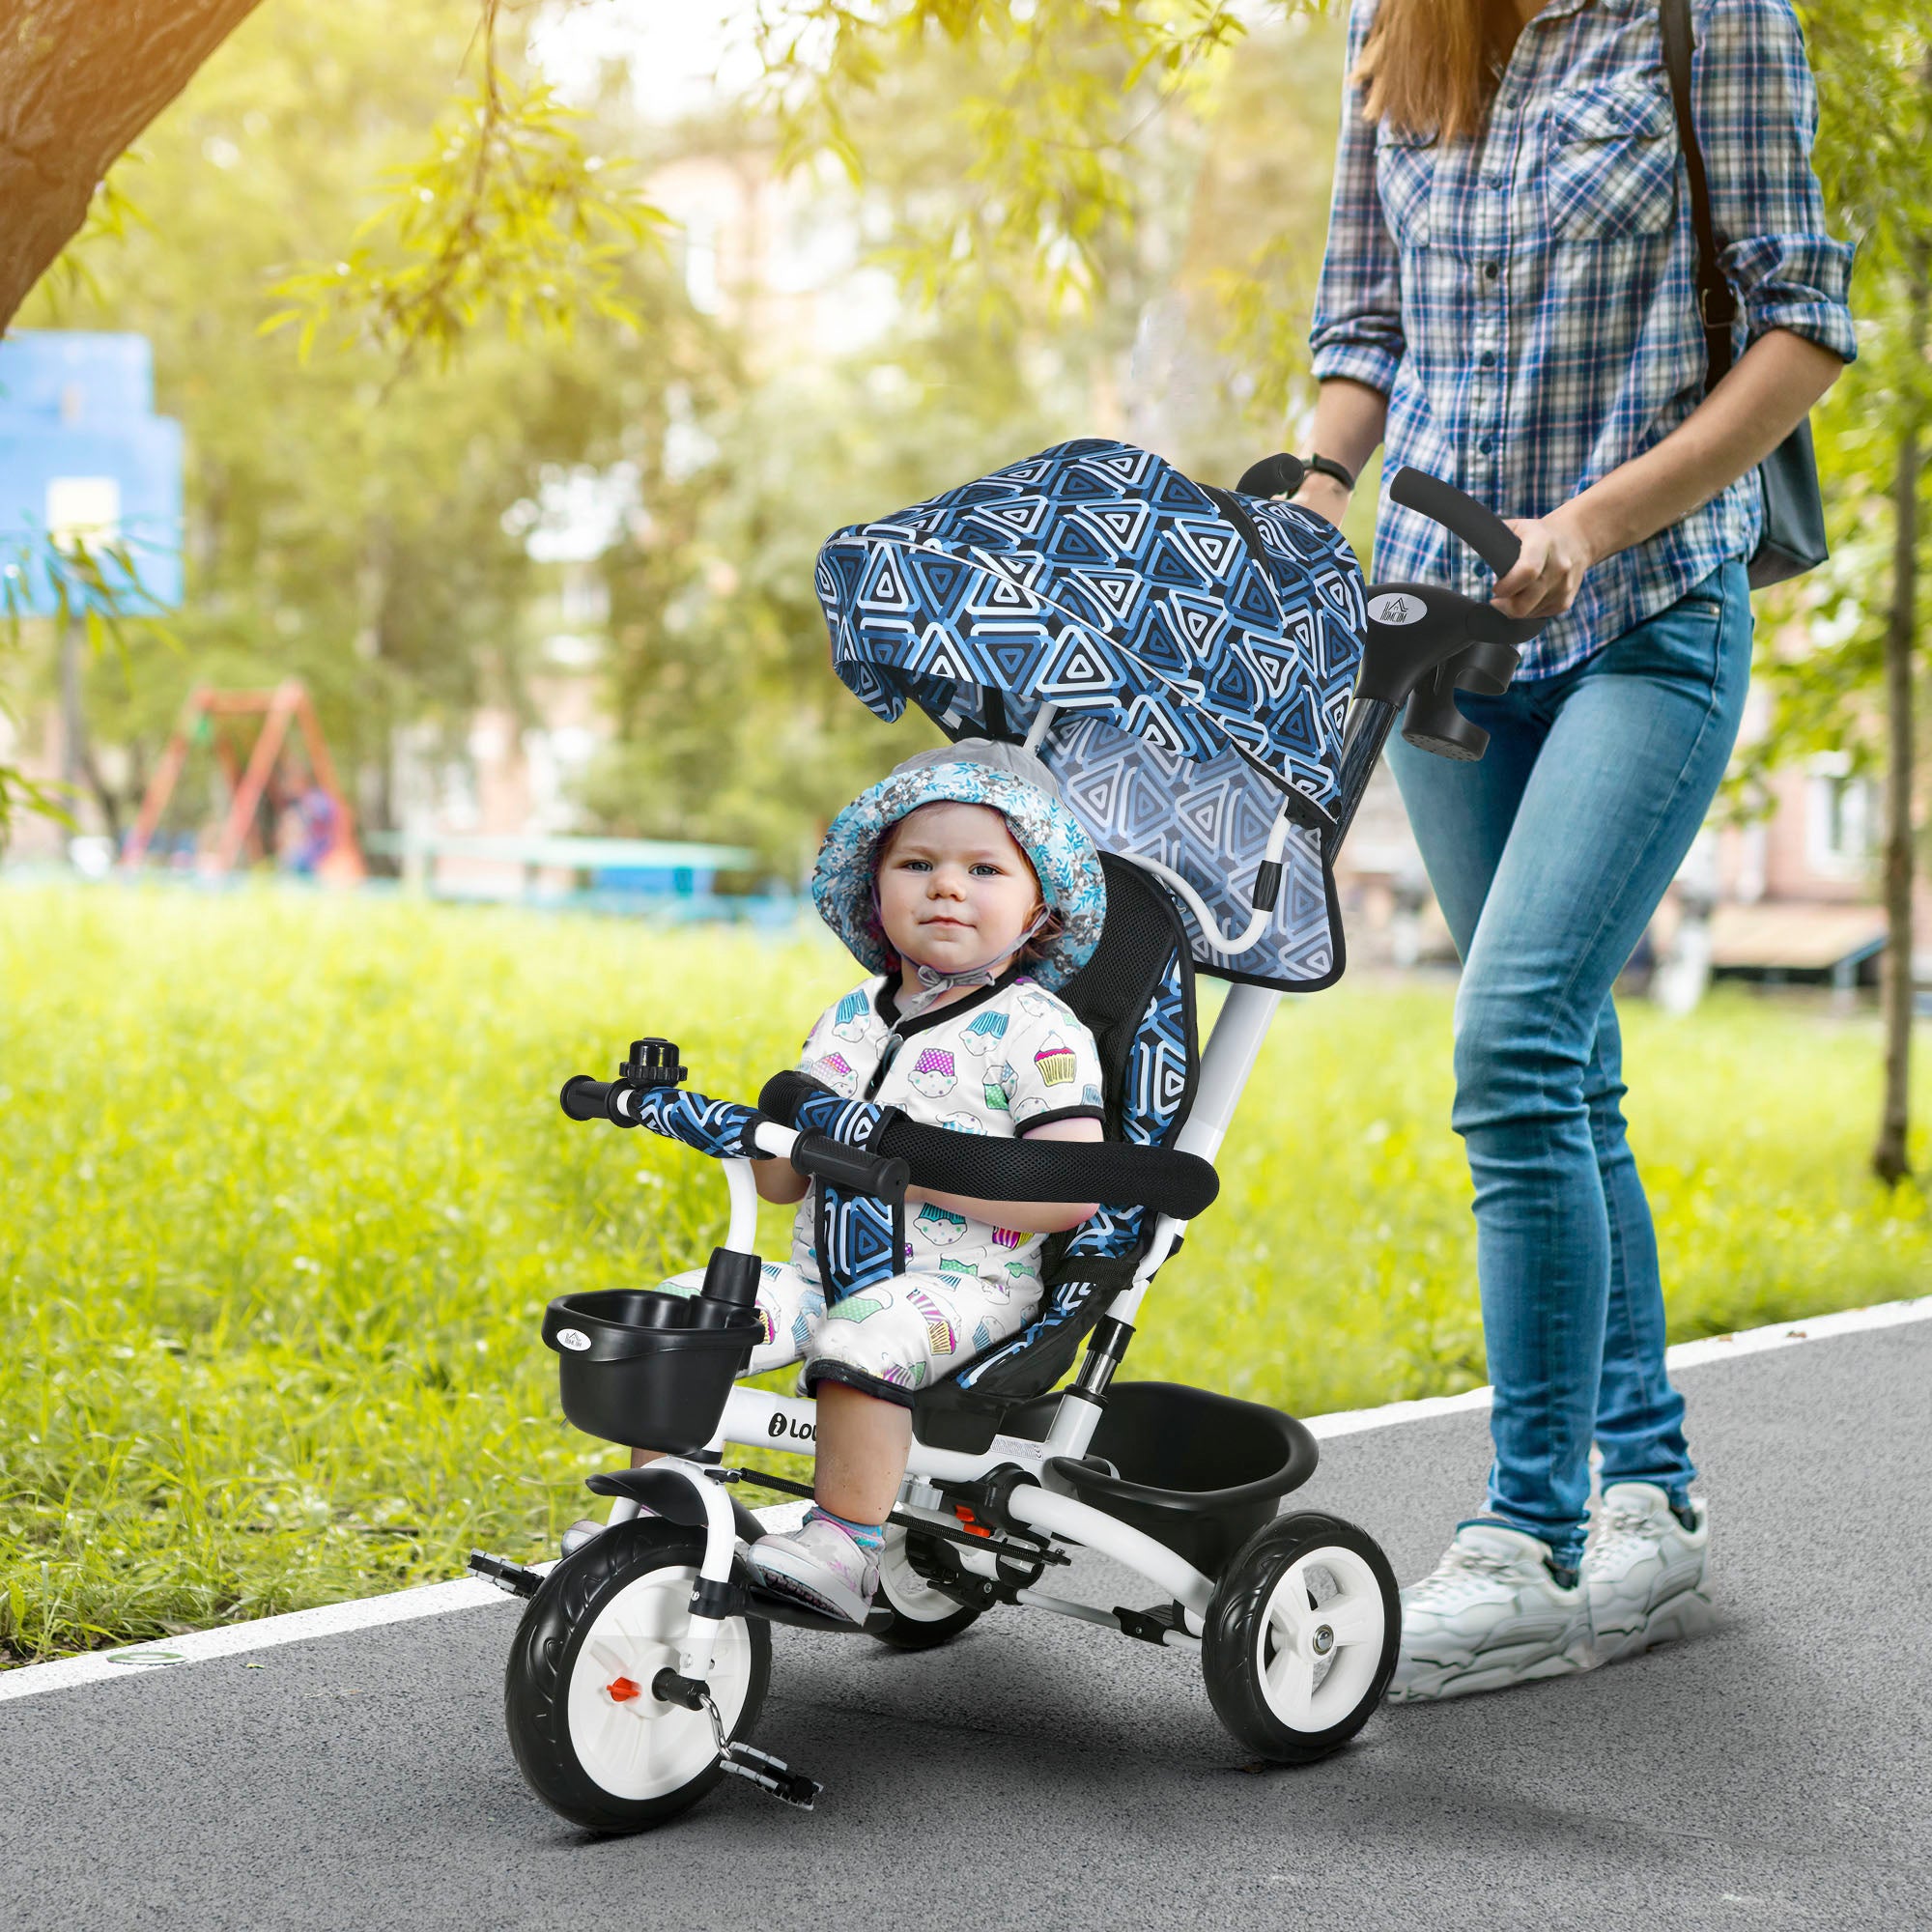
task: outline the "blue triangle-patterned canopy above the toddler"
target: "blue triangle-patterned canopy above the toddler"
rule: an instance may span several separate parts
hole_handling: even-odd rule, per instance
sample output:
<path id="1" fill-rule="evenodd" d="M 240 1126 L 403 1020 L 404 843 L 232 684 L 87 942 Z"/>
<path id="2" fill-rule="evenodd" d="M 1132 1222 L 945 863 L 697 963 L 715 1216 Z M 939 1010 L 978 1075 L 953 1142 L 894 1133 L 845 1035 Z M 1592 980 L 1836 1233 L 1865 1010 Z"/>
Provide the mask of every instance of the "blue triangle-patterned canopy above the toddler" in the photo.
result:
<path id="1" fill-rule="evenodd" d="M 1182 475 L 1150 450 L 1061 442 L 819 551 L 833 667 L 881 719 L 1036 750 L 1094 842 L 1180 873 L 1221 935 L 1277 815 L 1283 887 L 1260 943 L 1208 972 L 1312 989 L 1341 972 L 1323 833 L 1366 609 L 1325 520 Z"/>

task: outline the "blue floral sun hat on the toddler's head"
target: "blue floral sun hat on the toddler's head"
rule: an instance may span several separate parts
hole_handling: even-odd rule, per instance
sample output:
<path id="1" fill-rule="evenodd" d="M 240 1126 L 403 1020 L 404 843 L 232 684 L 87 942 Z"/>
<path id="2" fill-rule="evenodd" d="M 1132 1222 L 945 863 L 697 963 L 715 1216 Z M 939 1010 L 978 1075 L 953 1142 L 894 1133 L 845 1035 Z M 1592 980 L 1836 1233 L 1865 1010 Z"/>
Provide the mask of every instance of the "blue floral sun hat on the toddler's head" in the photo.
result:
<path id="1" fill-rule="evenodd" d="M 1059 916 L 1036 941 L 1030 968 L 1043 987 L 1065 985 L 1094 956 L 1107 920 L 1107 881 L 1086 827 L 1061 796 L 1059 781 L 1024 746 L 962 738 L 918 752 L 860 792 L 833 819 L 811 869 L 811 902 L 867 972 L 889 972 L 898 954 L 885 937 L 873 881 L 879 840 L 922 806 L 991 806 L 1039 881 L 1047 912 Z"/>

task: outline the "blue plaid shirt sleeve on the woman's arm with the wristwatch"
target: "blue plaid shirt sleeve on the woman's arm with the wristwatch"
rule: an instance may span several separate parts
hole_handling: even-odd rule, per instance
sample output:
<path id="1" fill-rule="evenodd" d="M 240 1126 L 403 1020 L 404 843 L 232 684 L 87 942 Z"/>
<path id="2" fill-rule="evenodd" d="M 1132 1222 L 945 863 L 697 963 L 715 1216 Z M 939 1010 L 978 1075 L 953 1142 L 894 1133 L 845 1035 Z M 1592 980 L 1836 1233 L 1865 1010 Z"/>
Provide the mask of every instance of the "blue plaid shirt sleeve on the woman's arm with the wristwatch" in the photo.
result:
<path id="1" fill-rule="evenodd" d="M 1354 71 L 1374 12 L 1376 0 L 1354 0 L 1347 73 Z M 1376 131 L 1362 120 L 1362 89 L 1349 79 L 1343 81 L 1335 195 L 1308 346 L 1320 383 L 1349 377 L 1383 396 L 1395 388 L 1395 365 L 1405 350 L 1403 284 L 1376 195 Z"/>

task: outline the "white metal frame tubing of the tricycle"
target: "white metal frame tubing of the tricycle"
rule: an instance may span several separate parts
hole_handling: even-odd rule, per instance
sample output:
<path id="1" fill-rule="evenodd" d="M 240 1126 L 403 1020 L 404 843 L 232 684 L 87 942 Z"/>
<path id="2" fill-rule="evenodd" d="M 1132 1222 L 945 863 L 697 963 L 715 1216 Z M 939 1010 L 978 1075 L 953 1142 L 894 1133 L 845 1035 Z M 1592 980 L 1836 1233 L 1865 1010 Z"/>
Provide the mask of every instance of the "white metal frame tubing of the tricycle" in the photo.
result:
<path id="1" fill-rule="evenodd" d="M 1254 1070 L 1256 1055 L 1267 1037 L 1267 1026 L 1275 1016 L 1281 995 L 1258 985 L 1231 985 L 1221 1014 L 1215 1020 L 1208 1047 L 1202 1053 L 1200 1082 L 1196 1086 L 1194 1111 L 1182 1122 L 1175 1146 L 1182 1153 L 1196 1153 L 1204 1161 L 1213 1161 L 1227 1138 L 1235 1105 Z M 618 1101 L 622 1107 L 622 1099 Z M 784 1126 L 765 1124 L 757 1128 L 761 1153 L 784 1157 L 792 1151 L 798 1136 Z M 740 1254 L 755 1252 L 757 1240 L 757 1188 L 752 1180 L 752 1163 L 726 1159 L 721 1163 L 730 1188 L 730 1225 L 724 1246 Z M 1128 1287 L 1107 1304 L 1107 1314 L 1124 1325 L 1132 1325 L 1140 1312 L 1140 1302 L 1148 1293 L 1161 1264 L 1175 1252 L 1184 1221 L 1161 1215 L 1153 1225 L 1153 1238 L 1146 1258 L 1134 1269 Z M 1099 1408 L 1076 1395 L 1063 1395 L 1055 1410 L 1045 1441 L 1022 1441 L 1016 1435 L 995 1435 L 981 1455 L 964 1455 L 954 1449 L 935 1449 L 912 1441 L 912 1455 L 906 1463 L 906 1482 L 900 1490 L 900 1509 L 912 1515 L 935 1513 L 939 1495 L 931 1482 L 974 1482 L 1009 1463 L 1016 1463 L 1034 1476 L 1034 1482 L 1014 1488 L 1007 1509 L 1016 1522 L 1047 1536 L 1051 1542 L 1078 1544 L 1101 1555 L 1124 1563 L 1146 1577 L 1165 1596 L 1173 1598 L 1186 1615 L 1186 1629 L 1173 1631 L 1165 1638 L 1171 1644 L 1198 1646 L 1206 1627 L 1208 1604 L 1213 1598 L 1213 1578 L 1194 1569 L 1192 1563 L 1175 1555 L 1165 1544 L 1142 1534 L 1117 1517 L 1082 1503 L 1072 1495 L 1057 1492 L 1043 1464 L 1049 1457 L 1086 1455 L 1094 1430 L 1099 1424 Z M 806 1447 L 817 1439 L 817 1403 L 804 1397 L 775 1395 L 769 1389 L 734 1387 L 724 1403 L 724 1416 L 717 1435 L 707 1445 L 707 1453 L 721 1453 L 726 1443 L 740 1447 Z M 699 1565 L 699 1578 L 728 1582 L 736 1530 L 732 1524 L 730 1499 L 724 1484 L 717 1480 L 715 1468 L 684 1457 L 663 1457 L 651 1464 L 653 1470 L 682 1476 L 697 1493 L 705 1509 L 705 1555 Z M 611 1520 L 622 1522 L 638 1513 L 630 1499 L 612 1505 Z M 935 1520 L 952 1522 L 951 1517 Z M 997 1557 L 985 1549 L 958 1549 L 964 1569 L 983 1577 L 997 1575 Z M 1018 1590 L 1018 1602 L 1047 1609 L 1063 1617 L 1078 1617 L 1086 1623 L 1115 1627 L 1115 1619 L 1086 1604 L 1072 1604 L 1049 1596 L 1041 1590 Z M 719 1634 L 719 1619 L 694 1615 L 678 1652 L 678 1671 L 684 1677 L 705 1679 L 713 1663 L 713 1646 Z"/>

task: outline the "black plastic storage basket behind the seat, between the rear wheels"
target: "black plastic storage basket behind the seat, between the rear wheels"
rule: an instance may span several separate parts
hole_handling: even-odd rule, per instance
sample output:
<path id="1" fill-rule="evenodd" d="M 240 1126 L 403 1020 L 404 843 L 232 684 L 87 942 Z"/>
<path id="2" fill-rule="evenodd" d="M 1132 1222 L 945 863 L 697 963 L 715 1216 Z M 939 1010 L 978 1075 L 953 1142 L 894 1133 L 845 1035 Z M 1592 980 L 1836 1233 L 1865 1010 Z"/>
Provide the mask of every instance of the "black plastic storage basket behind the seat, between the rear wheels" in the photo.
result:
<path id="1" fill-rule="evenodd" d="M 1057 1403 L 1057 1395 L 1028 1403 L 1003 1426 L 1032 1435 L 1030 1412 L 1045 1422 Z M 1316 1472 L 1318 1459 L 1314 1435 L 1279 1408 L 1179 1381 L 1117 1381 L 1088 1455 L 1053 1457 L 1047 1468 L 1082 1503 L 1219 1577 L 1281 1497 Z"/>

